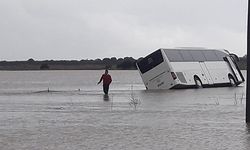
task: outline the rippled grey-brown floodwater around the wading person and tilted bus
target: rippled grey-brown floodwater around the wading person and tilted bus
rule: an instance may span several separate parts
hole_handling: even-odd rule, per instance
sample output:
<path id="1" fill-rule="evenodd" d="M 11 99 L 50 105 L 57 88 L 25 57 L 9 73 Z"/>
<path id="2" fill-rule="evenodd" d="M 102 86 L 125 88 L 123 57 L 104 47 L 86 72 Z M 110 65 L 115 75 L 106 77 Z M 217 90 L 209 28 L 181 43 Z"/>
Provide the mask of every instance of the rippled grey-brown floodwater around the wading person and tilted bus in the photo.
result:
<path id="1" fill-rule="evenodd" d="M 105 97 L 102 73 L 1 71 L 0 149 L 250 149 L 245 84 L 146 91 L 137 71 L 110 71 Z"/>

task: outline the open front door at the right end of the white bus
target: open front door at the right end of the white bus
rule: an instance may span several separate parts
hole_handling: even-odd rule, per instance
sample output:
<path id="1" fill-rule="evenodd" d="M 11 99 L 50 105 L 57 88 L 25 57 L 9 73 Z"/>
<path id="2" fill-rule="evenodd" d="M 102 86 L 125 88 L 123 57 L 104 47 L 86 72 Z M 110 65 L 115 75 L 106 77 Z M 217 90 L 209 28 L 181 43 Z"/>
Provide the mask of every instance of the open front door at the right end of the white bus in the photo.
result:
<path id="1" fill-rule="evenodd" d="M 238 66 L 235 64 L 235 62 L 232 60 L 232 58 L 230 56 L 226 57 L 226 62 L 229 64 L 229 67 L 231 68 L 235 78 L 236 78 L 236 82 L 242 82 L 244 81 L 243 75 L 241 74 Z"/>

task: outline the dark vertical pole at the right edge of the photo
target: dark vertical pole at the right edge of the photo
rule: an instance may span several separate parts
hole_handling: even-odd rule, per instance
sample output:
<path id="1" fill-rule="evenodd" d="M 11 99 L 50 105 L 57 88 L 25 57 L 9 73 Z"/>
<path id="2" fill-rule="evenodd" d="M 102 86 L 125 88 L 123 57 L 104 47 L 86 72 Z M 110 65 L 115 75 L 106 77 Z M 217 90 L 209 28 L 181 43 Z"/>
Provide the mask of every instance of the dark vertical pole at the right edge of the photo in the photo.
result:
<path id="1" fill-rule="evenodd" d="M 249 28 L 249 0 L 248 0 L 248 14 L 247 14 L 247 88 L 246 88 L 246 123 L 250 123 L 250 100 L 249 100 L 249 96 L 250 96 L 250 56 L 248 56 L 248 54 L 250 55 L 250 28 Z"/>

